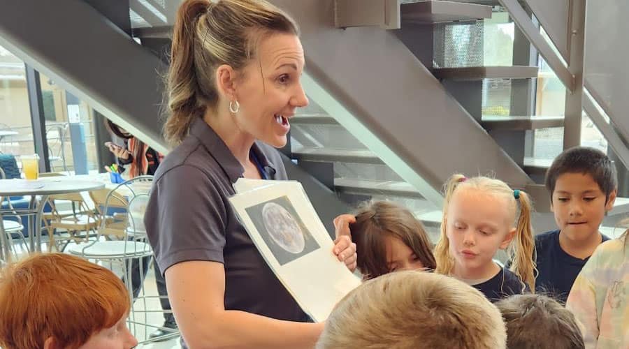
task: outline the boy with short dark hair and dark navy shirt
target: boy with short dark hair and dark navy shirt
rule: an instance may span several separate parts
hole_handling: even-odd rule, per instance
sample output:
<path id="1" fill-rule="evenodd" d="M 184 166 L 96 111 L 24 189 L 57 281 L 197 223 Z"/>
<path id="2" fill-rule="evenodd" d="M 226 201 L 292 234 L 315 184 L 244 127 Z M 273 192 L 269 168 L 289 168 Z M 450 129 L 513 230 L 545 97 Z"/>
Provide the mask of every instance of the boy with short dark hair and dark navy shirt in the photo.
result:
<path id="1" fill-rule="evenodd" d="M 611 160 L 597 149 L 563 151 L 546 173 L 558 230 L 535 237 L 535 289 L 565 302 L 574 279 L 598 245 L 609 240 L 598 228 L 614 207 L 618 182 Z"/>

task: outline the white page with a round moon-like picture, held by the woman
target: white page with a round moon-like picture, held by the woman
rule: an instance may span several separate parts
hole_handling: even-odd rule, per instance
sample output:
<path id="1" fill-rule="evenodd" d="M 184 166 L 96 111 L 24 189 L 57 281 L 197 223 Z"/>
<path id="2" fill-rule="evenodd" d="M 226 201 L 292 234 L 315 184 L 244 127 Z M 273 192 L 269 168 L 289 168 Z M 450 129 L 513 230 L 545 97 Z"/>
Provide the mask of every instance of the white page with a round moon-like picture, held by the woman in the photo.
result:
<path id="1" fill-rule="evenodd" d="M 313 320 L 324 321 L 361 281 L 332 253 L 334 243 L 301 184 L 276 183 L 229 200 L 277 279 Z"/>

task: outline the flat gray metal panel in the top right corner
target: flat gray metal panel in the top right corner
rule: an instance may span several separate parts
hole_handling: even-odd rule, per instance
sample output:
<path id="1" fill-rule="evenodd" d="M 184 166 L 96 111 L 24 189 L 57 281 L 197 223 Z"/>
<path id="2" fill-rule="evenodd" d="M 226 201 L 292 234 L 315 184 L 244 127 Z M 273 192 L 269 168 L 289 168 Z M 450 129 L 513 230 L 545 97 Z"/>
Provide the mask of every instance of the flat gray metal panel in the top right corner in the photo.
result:
<path id="1" fill-rule="evenodd" d="M 587 1 L 586 88 L 625 140 L 629 140 L 629 1 Z"/>

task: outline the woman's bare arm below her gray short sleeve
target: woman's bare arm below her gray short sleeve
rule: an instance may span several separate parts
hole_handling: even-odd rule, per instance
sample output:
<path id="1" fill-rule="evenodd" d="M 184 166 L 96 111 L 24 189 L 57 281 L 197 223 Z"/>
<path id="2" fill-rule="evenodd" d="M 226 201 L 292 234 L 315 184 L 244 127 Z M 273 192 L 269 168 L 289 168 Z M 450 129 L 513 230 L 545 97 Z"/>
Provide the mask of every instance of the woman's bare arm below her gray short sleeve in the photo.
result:
<path id="1" fill-rule="evenodd" d="M 166 285 L 177 324 L 191 349 L 313 348 L 323 331 L 323 323 L 226 311 L 225 271 L 219 262 L 173 265 L 166 269 Z"/>

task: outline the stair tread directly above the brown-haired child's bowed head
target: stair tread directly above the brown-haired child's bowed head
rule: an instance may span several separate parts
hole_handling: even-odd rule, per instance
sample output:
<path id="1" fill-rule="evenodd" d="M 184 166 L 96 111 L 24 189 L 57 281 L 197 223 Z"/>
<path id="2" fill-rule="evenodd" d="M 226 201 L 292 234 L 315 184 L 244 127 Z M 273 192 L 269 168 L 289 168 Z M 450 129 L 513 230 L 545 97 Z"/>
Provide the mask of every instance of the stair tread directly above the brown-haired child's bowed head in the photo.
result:
<path id="1" fill-rule="evenodd" d="M 414 186 L 405 181 L 370 181 L 353 178 L 335 178 L 334 186 L 337 191 L 341 193 L 423 198 Z"/>

